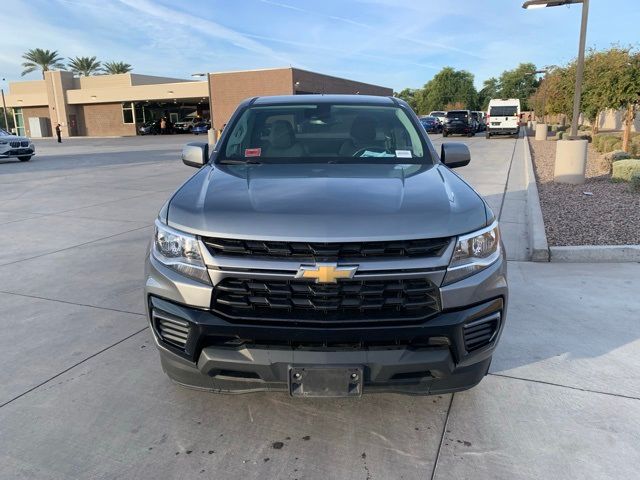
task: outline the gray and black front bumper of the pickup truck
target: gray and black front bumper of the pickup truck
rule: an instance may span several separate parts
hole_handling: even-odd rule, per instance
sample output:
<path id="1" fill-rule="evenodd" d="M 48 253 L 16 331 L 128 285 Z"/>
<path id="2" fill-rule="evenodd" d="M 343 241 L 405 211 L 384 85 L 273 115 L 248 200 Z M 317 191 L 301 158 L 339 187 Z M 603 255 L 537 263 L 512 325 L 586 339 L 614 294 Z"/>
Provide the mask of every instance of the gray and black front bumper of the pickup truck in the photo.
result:
<path id="1" fill-rule="evenodd" d="M 442 287 L 443 311 L 408 325 L 328 329 L 231 323 L 206 307 L 210 287 L 185 281 L 153 259 L 147 262 L 145 290 L 163 370 L 179 384 L 221 393 L 288 392 L 289 371 L 301 366 L 362 367 L 364 393 L 468 389 L 487 373 L 508 298 L 504 258 Z M 184 348 L 162 339 L 154 312 L 189 326 Z M 483 319 L 495 322 L 492 337 L 470 349 L 466 328 Z"/>

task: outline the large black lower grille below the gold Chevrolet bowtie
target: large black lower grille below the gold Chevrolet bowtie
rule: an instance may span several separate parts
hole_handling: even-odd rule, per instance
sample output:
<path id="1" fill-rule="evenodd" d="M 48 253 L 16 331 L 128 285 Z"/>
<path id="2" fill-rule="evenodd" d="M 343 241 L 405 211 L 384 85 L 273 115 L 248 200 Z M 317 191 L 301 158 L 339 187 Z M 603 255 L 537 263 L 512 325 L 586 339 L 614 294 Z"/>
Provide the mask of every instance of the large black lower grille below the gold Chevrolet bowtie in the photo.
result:
<path id="1" fill-rule="evenodd" d="M 214 288 L 212 309 L 244 323 L 352 324 L 424 320 L 440 311 L 438 287 L 427 279 L 339 281 L 226 278 Z"/>

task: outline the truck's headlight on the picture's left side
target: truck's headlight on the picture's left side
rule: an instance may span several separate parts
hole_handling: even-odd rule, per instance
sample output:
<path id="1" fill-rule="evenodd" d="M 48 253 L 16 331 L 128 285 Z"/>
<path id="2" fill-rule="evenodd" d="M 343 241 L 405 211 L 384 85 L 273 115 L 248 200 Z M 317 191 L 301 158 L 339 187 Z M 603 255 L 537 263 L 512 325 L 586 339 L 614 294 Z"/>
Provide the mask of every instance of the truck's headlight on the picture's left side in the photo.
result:
<path id="1" fill-rule="evenodd" d="M 153 257 L 164 266 L 185 277 L 211 284 L 195 236 L 169 228 L 156 220 L 152 252 Z"/>

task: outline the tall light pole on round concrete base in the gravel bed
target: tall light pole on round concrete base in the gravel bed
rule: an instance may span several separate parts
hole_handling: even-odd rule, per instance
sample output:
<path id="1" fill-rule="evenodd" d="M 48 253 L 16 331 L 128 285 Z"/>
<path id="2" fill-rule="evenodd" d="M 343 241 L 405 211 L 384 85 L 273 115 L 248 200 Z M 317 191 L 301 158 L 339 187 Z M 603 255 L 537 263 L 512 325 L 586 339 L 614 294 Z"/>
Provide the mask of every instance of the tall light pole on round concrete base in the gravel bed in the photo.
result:
<path id="1" fill-rule="evenodd" d="M 587 169 L 587 141 L 578 140 L 578 120 L 580 117 L 580 98 L 582 97 L 582 77 L 584 76 L 584 49 L 587 41 L 587 21 L 589 19 L 589 0 L 527 0 L 522 8 L 560 7 L 573 3 L 582 4 L 582 24 L 580 26 L 580 45 L 578 64 L 576 65 L 576 87 L 573 94 L 573 118 L 571 119 L 571 142 L 559 141 L 556 148 L 554 180 L 560 183 L 584 183 Z"/>

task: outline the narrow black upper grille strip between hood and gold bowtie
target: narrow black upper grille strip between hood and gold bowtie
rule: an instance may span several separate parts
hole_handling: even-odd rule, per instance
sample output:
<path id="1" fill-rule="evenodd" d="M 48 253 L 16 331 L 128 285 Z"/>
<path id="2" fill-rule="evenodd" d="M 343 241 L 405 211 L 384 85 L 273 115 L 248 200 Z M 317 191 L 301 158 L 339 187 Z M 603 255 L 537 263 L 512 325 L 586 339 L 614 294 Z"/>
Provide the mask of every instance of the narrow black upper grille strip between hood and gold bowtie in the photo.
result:
<path id="1" fill-rule="evenodd" d="M 203 241 L 212 255 L 339 260 L 372 257 L 435 257 L 444 253 L 450 239 L 346 243 L 270 242 L 227 238 L 203 238 Z"/>

